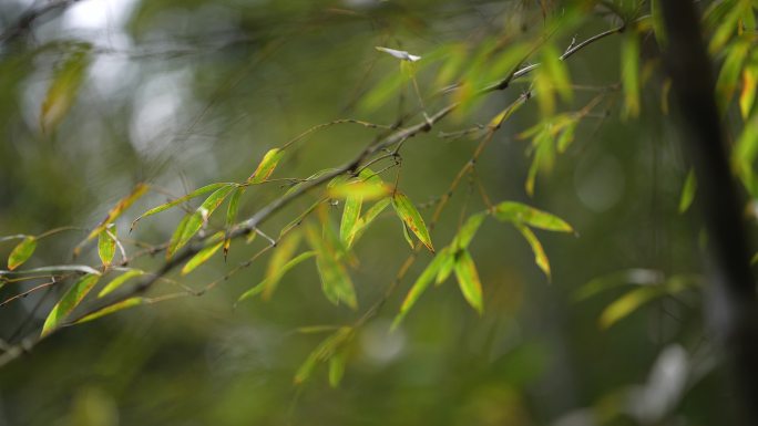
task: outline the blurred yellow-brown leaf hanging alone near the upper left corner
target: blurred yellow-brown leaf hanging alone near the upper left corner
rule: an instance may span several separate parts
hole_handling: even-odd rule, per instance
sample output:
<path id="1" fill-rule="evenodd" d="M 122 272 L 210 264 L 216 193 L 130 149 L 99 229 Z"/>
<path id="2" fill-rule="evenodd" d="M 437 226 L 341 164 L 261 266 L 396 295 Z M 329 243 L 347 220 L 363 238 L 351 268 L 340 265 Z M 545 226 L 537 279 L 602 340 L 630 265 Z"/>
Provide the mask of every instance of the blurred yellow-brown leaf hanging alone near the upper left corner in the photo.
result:
<path id="1" fill-rule="evenodd" d="M 55 71 L 42 101 L 40 125 L 43 132 L 54 129 L 73 105 L 91 62 L 90 49 L 89 45 L 78 49 Z"/>

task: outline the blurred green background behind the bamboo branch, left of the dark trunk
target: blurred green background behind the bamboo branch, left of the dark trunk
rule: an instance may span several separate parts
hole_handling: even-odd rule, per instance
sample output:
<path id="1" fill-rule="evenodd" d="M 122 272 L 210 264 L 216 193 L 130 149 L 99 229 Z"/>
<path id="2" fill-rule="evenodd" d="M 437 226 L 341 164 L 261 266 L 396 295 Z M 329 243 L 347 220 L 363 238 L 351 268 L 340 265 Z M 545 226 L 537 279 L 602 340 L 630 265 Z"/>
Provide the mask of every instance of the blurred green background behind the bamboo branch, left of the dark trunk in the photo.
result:
<path id="1" fill-rule="evenodd" d="M 44 2 L 3 0 L 0 25 L 12 28 Z M 546 8 L 546 9 L 545 9 Z M 536 1 L 265 1 L 85 0 L 37 20 L 0 45 L 0 235 L 49 237 L 25 267 L 71 262 L 71 249 L 133 186 L 146 181 L 182 195 L 214 181 L 242 181 L 268 149 L 337 118 L 390 125 L 422 120 L 409 85 L 387 90 L 387 102 L 366 97 L 398 60 L 375 46 L 422 59 L 419 90 L 430 112 L 450 96 L 436 77 L 451 46 L 469 52 L 455 76 L 475 63 L 488 43 L 532 42 L 547 14 L 562 4 Z M 564 50 L 615 27 L 601 7 L 552 39 Z M 523 238 L 488 219 L 471 250 L 484 288 L 478 315 L 454 280 L 429 289 L 401 328 L 389 324 L 416 277 L 431 259 L 421 252 L 409 274 L 350 343 L 345 378 L 329 386 L 319 366 L 295 386 L 298 366 L 324 339 L 300 333 L 310 325 L 350 324 L 392 282 L 410 253 L 389 209 L 356 247 L 350 273 L 357 311 L 334 306 L 320 292 L 316 268 L 294 269 L 272 300 L 240 293 L 260 281 L 262 257 L 202 297 L 137 306 L 69 328 L 0 370 L 0 425 L 716 425 L 725 424 L 728 395 L 715 373 L 697 291 L 664 294 L 607 330 L 598 316 L 637 287 L 700 270 L 693 212 L 678 212 L 686 162 L 662 113 L 662 77 L 642 38 L 642 113 L 622 118 L 621 37 L 610 37 L 567 61 L 571 102 L 578 111 L 611 89 L 578 124 L 575 142 L 524 190 L 529 139 L 519 133 L 541 121 L 530 100 L 477 163 L 493 201 L 519 200 L 554 212 L 577 236 L 537 231 L 552 266 L 547 280 Z M 447 50 L 445 50 L 447 49 Z M 505 49 L 506 51 L 506 49 Z M 69 81 L 71 106 L 47 116 L 51 84 L 75 52 L 81 82 Z M 434 53 L 438 52 L 438 53 Z M 441 52 L 441 53 L 440 53 Z M 534 58 L 539 61 L 539 58 Z M 474 75 L 472 79 L 480 83 Z M 452 82 L 452 81 L 451 81 Z M 451 83 L 450 82 L 450 83 Z M 484 82 L 484 83 L 489 83 Z M 381 87 L 381 86 L 380 86 Z M 417 204 L 442 196 L 478 141 L 440 137 L 486 125 L 529 89 L 529 80 L 488 95 L 402 148 L 399 187 Z M 59 105 L 60 106 L 60 105 Z M 273 177 L 307 177 L 352 157 L 379 131 L 340 124 L 296 145 Z M 387 163 L 390 165 L 390 163 Z M 373 166 L 380 169 L 379 166 Z M 382 174 L 395 181 L 397 167 Z M 240 218 L 286 190 L 281 181 L 246 193 Z M 464 179 L 432 233 L 439 247 L 455 232 L 461 211 L 484 209 L 477 185 Z M 315 196 L 267 221 L 277 235 Z M 181 211 L 130 221 L 166 200 L 151 191 L 119 219 L 127 250 L 135 241 L 166 241 Z M 421 209 L 430 220 L 431 208 Z M 330 208 L 335 220 L 341 206 Z M 223 216 L 223 215 L 222 215 Z M 199 289 L 245 261 L 266 241 L 234 243 L 180 284 Z M 3 258 L 13 242 L 2 242 Z M 140 268 L 163 257 L 139 260 Z M 78 263 L 98 264 L 90 248 Z M 618 287 L 583 301 L 575 292 L 608 274 Z M 638 280 L 638 281 L 639 281 Z M 8 283 L 2 300 L 40 282 Z M 651 284 L 651 282 L 647 282 Z M 151 295 L 181 290 L 162 283 Z M 35 333 L 62 287 L 33 291 L 0 306 L 0 333 L 9 343 Z"/>

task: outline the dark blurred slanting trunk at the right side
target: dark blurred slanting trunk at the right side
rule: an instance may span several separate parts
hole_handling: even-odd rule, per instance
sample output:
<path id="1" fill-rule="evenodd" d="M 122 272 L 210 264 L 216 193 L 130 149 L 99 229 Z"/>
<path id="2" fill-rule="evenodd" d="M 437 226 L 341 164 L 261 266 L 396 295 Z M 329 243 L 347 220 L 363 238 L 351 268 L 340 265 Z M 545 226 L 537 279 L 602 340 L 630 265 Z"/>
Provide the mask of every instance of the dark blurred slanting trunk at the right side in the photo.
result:
<path id="1" fill-rule="evenodd" d="M 739 195 L 714 97 L 713 71 L 692 0 L 663 0 L 664 50 L 678 104 L 679 137 L 690 153 L 708 235 L 706 308 L 733 384 L 739 419 L 758 425 L 756 285 Z"/>

